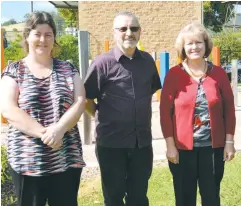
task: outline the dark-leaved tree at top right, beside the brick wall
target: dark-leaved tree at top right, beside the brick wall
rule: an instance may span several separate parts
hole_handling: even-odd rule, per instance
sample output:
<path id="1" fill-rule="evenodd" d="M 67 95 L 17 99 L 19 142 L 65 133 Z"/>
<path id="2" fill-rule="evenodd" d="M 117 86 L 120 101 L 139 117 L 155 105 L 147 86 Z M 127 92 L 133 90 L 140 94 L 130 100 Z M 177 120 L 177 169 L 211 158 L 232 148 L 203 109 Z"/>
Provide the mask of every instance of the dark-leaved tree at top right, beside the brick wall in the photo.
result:
<path id="1" fill-rule="evenodd" d="M 214 32 L 222 31 L 223 24 L 233 15 L 234 2 L 227 1 L 204 1 L 204 25 Z"/>

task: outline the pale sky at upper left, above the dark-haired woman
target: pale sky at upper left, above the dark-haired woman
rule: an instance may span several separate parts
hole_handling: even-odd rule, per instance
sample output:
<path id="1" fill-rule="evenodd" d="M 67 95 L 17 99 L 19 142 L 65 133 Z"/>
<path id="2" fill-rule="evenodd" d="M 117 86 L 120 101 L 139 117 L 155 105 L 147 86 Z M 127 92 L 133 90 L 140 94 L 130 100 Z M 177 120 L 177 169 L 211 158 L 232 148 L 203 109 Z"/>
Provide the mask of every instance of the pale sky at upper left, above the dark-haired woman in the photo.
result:
<path id="1" fill-rule="evenodd" d="M 33 10 L 57 11 L 48 1 L 33 1 Z M 31 1 L 1 1 L 1 23 L 10 19 L 24 21 L 24 15 L 31 12 Z"/>

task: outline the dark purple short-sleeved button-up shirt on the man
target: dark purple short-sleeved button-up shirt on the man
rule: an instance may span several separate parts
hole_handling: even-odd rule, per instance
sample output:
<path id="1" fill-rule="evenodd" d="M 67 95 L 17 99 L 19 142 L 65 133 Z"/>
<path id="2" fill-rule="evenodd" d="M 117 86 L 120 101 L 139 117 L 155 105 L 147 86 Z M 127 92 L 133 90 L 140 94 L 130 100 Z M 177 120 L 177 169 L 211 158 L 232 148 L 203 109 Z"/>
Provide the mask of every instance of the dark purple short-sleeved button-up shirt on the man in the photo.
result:
<path id="1" fill-rule="evenodd" d="M 133 58 L 118 47 L 91 63 L 85 79 L 86 97 L 97 98 L 96 141 L 112 148 L 139 148 L 152 141 L 152 95 L 161 89 L 150 54 L 136 49 Z"/>

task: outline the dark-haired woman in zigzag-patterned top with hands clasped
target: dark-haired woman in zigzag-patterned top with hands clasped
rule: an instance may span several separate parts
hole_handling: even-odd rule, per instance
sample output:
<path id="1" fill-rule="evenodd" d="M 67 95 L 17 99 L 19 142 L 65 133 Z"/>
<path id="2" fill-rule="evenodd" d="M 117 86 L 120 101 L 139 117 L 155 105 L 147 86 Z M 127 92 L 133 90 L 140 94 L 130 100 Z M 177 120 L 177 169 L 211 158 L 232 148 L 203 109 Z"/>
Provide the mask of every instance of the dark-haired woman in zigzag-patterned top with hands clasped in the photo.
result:
<path id="1" fill-rule="evenodd" d="M 85 166 L 76 125 L 85 90 L 78 70 L 52 57 L 56 28 L 50 14 L 32 13 L 23 37 L 28 54 L 8 65 L 1 81 L 19 205 L 75 206 Z"/>

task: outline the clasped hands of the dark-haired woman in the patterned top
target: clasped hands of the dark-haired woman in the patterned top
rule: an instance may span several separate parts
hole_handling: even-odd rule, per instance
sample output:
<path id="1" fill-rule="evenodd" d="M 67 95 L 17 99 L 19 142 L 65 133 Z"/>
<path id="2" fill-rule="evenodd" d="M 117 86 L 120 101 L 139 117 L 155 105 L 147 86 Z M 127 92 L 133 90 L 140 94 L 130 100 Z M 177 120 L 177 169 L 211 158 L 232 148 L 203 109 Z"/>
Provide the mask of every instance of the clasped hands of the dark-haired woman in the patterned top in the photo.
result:
<path id="1" fill-rule="evenodd" d="M 53 124 L 49 127 L 46 127 L 43 131 L 43 136 L 41 140 L 44 144 L 58 149 L 63 144 L 63 136 L 65 131 L 58 124 Z"/>

